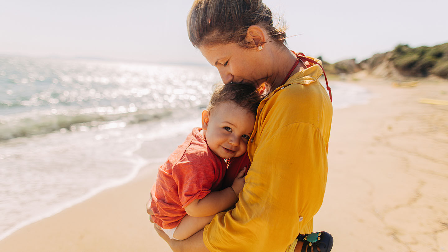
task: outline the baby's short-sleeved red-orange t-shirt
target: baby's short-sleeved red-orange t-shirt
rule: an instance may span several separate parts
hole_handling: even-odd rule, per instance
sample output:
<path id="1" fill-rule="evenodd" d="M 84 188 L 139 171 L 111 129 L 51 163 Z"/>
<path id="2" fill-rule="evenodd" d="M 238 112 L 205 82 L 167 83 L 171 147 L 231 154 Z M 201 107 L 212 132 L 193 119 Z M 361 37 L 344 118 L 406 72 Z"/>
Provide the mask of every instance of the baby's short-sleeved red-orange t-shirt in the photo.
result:
<path id="1" fill-rule="evenodd" d="M 151 189 L 152 219 L 162 228 L 179 225 L 185 207 L 221 189 L 226 164 L 207 146 L 201 128 L 194 128 L 159 168 Z"/>

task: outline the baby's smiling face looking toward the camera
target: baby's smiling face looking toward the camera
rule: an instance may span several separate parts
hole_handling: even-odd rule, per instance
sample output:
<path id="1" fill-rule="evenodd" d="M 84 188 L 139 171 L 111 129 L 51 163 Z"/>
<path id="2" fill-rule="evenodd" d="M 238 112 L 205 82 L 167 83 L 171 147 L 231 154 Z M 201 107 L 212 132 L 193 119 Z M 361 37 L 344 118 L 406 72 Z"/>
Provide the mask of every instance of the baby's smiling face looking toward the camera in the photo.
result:
<path id="1" fill-rule="evenodd" d="M 221 102 L 210 112 L 202 113 L 202 128 L 207 145 L 224 159 L 246 152 L 254 124 L 254 114 L 233 102 Z"/>

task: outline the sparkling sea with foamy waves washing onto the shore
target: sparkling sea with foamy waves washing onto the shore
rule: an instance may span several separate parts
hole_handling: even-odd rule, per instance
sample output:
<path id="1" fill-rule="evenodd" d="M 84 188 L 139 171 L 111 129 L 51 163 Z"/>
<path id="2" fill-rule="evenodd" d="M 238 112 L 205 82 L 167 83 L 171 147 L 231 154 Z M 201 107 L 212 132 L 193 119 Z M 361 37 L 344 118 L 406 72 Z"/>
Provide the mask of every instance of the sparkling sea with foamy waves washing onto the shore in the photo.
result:
<path id="1" fill-rule="evenodd" d="M 208 65 L 0 56 L 0 240 L 162 164 L 142 143 L 200 126 L 219 82 Z M 334 109 L 369 102 L 329 84 Z"/>

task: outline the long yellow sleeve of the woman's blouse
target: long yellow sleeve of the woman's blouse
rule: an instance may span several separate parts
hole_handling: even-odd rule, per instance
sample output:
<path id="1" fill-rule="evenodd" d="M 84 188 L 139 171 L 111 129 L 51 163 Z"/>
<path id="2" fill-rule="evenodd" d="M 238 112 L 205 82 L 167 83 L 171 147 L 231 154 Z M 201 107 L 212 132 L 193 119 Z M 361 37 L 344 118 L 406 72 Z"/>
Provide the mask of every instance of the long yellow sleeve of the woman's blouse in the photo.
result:
<path id="1" fill-rule="evenodd" d="M 283 252 L 310 231 L 322 204 L 327 151 L 319 128 L 297 122 L 261 137 L 235 209 L 204 228 L 211 252 Z"/>

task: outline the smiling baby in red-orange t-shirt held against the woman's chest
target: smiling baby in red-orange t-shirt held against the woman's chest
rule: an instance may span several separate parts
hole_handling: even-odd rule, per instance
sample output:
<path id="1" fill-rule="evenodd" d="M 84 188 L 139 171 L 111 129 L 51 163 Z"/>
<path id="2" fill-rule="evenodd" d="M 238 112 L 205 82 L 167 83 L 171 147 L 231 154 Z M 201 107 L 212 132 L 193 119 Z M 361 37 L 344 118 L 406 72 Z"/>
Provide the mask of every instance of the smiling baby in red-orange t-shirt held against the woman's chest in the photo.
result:
<path id="1" fill-rule="evenodd" d="M 194 128 L 160 166 L 151 190 L 151 217 L 170 239 L 187 239 L 238 201 L 246 168 L 222 188 L 225 160 L 246 153 L 260 101 L 251 85 L 218 86 L 202 111 L 202 128 Z"/>

